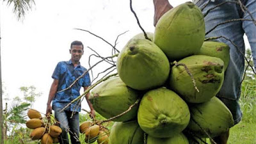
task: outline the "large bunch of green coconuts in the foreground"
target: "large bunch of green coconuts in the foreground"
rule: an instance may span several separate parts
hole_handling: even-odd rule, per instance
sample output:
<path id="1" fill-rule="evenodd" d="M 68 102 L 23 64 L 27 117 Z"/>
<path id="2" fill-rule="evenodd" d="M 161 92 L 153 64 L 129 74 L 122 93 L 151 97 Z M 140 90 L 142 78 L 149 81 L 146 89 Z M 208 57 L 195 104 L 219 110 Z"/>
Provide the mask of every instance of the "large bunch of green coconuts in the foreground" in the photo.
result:
<path id="1" fill-rule="evenodd" d="M 118 55 L 118 76 L 90 94 L 93 108 L 105 118 L 127 112 L 113 120 L 109 143 L 205 143 L 232 127 L 232 114 L 215 97 L 229 47 L 204 42 L 201 10 L 191 2 L 180 4 L 147 36 L 150 40 L 141 33 L 127 42 Z"/>

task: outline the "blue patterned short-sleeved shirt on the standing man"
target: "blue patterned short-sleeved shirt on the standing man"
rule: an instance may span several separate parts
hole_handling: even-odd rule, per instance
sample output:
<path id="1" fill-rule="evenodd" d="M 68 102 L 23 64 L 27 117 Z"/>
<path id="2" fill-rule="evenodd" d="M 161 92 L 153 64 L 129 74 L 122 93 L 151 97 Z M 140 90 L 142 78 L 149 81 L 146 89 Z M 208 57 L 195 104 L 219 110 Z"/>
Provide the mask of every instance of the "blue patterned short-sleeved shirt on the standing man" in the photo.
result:
<path id="1" fill-rule="evenodd" d="M 68 88 L 68 86 L 70 86 L 77 79 L 77 77 L 81 76 L 85 71 L 86 68 L 81 66 L 80 63 L 77 65 L 77 67 L 74 67 L 71 60 L 59 62 L 52 74 L 53 79 L 59 80 L 57 91 Z M 64 108 L 69 102 L 76 99 L 80 95 L 79 91 L 82 86 L 90 86 L 90 83 L 90 76 L 89 73 L 87 73 L 84 75 L 84 77 L 79 79 L 79 81 L 77 81 L 72 88 L 65 90 L 64 92 L 56 93 L 54 99 L 52 100 L 52 108 Z M 65 110 L 77 112 L 81 111 L 80 100 L 72 103 Z"/>

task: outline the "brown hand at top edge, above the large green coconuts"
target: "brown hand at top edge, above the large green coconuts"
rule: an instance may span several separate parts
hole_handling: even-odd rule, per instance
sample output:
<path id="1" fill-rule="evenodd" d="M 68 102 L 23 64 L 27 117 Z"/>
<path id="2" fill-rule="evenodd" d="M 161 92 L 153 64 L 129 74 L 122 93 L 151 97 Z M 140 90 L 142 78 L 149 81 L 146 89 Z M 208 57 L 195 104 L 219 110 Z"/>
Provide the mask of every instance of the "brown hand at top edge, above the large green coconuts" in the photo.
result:
<path id="1" fill-rule="evenodd" d="M 173 7 L 168 0 L 154 0 L 154 26 L 156 26 L 158 20 L 164 15 L 164 13 L 171 10 Z"/>

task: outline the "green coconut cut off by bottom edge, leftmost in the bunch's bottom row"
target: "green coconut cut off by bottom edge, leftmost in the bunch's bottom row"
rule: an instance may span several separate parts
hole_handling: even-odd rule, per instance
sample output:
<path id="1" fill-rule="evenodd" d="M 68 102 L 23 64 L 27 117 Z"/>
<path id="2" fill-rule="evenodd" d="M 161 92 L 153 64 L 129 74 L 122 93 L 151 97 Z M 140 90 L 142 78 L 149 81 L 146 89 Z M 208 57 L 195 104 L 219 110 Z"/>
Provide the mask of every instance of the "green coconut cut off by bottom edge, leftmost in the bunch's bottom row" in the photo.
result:
<path id="1" fill-rule="evenodd" d="M 143 144 L 143 140 L 144 132 L 137 121 L 115 122 L 109 136 L 110 144 Z"/>

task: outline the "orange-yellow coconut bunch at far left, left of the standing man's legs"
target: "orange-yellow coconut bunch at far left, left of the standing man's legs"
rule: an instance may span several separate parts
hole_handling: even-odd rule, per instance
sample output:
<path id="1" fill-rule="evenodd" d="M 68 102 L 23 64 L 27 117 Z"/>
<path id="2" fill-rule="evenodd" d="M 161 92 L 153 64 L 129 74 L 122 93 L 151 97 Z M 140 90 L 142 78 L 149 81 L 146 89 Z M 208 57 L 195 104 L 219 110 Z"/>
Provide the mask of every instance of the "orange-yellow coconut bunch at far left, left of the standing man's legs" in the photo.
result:
<path id="1" fill-rule="evenodd" d="M 62 130 L 57 125 L 51 125 L 49 119 L 44 120 L 39 111 L 35 109 L 28 110 L 28 117 L 30 120 L 26 122 L 26 126 L 31 131 L 29 137 L 31 140 L 41 140 L 42 144 L 59 143 L 58 136 Z"/>

